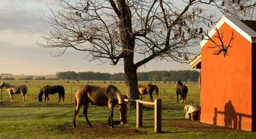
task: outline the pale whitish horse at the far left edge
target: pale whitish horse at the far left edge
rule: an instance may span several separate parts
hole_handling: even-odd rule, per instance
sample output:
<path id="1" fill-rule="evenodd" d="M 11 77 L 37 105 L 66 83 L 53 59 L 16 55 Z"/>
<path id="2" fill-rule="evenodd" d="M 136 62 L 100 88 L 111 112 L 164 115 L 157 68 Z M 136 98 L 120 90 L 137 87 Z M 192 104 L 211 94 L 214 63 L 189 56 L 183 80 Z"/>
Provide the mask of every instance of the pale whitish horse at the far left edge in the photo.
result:
<path id="1" fill-rule="evenodd" d="M 3 87 L 7 88 L 7 91 L 9 92 L 9 95 L 11 97 L 11 102 L 13 101 L 13 94 L 19 94 L 19 93 L 22 93 L 23 102 L 25 102 L 25 98 L 27 95 L 27 86 L 26 85 L 14 86 L 14 85 L 11 85 L 6 82 L 1 82 L 0 89 L 3 89 Z"/>

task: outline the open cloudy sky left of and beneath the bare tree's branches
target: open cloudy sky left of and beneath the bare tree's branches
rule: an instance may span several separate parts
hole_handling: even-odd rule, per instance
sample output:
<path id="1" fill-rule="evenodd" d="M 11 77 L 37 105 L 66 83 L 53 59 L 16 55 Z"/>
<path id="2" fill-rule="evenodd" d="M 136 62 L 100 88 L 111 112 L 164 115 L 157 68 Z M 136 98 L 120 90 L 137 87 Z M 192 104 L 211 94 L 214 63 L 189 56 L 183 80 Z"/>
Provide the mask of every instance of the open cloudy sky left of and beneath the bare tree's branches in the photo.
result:
<path id="1" fill-rule="evenodd" d="M 49 36 L 50 25 L 44 15 L 51 15 L 47 5 L 56 7 L 55 0 L 1 0 L 0 4 L 0 73 L 14 75 L 52 75 L 56 72 L 124 72 L 120 64 L 111 66 L 99 61 L 89 62 L 86 54 L 67 49 L 62 56 L 54 57 L 59 49 L 42 48 L 36 41 Z M 198 46 L 198 51 L 200 47 Z M 137 71 L 191 69 L 187 63 L 152 60 Z"/>

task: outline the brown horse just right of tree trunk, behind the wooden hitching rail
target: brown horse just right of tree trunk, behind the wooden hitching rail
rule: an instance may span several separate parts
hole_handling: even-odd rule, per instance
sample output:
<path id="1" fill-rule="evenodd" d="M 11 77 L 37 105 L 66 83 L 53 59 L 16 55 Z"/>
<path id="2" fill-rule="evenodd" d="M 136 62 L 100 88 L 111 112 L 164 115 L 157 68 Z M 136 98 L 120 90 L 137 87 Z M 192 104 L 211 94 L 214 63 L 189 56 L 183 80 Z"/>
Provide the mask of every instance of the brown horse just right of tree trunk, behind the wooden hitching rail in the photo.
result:
<path id="1" fill-rule="evenodd" d="M 149 101 L 151 100 L 151 102 L 153 102 L 152 93 L 154 92 L 154 90 L 156 92 L 156 95 L 158 96 L 159 90 L 156 85 L 151 85 L 151 84 L 139 85 L 140 100 L 142 100 L 142 95 L 146 95 L 149 93 L 150 95 Z"/>

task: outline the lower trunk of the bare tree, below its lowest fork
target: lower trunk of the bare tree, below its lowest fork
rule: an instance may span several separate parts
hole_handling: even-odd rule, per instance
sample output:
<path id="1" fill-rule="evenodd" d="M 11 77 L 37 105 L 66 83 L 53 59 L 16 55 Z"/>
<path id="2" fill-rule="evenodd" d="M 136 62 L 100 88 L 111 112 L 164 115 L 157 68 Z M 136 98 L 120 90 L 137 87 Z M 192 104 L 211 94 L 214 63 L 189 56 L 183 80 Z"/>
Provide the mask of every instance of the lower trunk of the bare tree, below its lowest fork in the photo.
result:
<path id="1" fill-rule="evenodd" d="M 137 68 L 134 65 L 133 58 L 133 54 L 128 54 L 128 56 L 124 58 L 125 83 L 127 88 L 126 95 L 130 99 L 139 99 Z"/>

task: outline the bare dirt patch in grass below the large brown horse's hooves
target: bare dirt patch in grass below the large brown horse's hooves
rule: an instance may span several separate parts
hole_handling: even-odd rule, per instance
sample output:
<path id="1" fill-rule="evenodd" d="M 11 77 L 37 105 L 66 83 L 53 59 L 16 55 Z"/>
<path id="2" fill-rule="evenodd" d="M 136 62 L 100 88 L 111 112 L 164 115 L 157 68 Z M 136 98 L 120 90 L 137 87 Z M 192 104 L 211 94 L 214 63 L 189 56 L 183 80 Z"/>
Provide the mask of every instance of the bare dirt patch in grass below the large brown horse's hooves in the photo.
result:
<path id="1" fill-rule="evenodd" d="M 92 127 L 88 125 L 77 125 L 77 127 L 58 127 L 61 132 L 71 133 L 81 138 L 113 138 L 113 137 L 134 137 L 147 135 L 147 132 L 131 129 L 124 125 L 116 125 L 115 128 L 110 128 L 107 124 L 94 123 Z"/>

